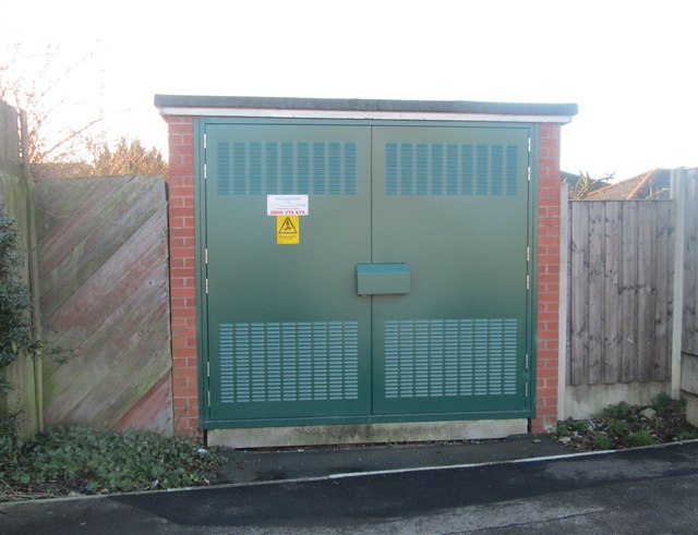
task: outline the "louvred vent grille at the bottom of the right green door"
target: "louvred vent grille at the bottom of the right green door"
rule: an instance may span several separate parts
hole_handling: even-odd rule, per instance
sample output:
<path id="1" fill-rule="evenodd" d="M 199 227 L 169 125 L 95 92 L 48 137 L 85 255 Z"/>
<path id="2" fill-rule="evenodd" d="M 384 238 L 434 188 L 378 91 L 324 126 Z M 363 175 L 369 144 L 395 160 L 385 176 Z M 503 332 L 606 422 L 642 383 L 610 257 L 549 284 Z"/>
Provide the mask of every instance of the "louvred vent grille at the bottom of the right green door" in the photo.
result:
<path id="1" fill-rule="evenodd" d="M 515 394 L 516 319 L 385 323 L 385 397 Z"/>

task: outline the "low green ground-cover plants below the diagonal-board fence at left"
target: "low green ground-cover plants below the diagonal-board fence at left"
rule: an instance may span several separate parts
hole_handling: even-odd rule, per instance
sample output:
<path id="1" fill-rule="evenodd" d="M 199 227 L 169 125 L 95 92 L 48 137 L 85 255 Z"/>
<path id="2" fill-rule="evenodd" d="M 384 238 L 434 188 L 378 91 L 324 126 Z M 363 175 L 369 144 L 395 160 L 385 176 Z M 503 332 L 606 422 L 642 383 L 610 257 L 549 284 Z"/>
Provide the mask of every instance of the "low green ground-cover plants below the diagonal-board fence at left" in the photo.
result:
<path id="1" fill-rule="evenodd" d="M 208 485 L 224 461 L 191 438 L 57 427 L 0 458 L 0 501 Z"/>

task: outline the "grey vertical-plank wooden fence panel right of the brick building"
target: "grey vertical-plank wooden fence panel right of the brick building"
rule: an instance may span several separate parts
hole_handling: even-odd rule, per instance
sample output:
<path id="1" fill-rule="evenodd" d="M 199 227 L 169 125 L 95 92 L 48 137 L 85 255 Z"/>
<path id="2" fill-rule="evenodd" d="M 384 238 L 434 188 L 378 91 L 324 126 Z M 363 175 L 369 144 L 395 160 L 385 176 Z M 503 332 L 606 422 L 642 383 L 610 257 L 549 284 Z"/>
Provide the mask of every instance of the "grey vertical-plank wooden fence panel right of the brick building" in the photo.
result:
<path id="1" fill-rule="evenodd" d="M 674 206 L 571 202 L 568 384 L 670 376 Z"/>

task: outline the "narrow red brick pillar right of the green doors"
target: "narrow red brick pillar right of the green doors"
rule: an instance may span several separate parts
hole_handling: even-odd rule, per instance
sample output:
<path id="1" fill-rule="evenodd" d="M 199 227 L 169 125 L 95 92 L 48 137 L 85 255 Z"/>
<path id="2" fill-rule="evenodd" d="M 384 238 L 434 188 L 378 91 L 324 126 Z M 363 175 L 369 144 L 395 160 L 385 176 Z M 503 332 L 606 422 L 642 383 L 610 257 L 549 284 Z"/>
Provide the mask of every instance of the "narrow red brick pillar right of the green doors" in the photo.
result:
<path id="1" fill-rule="evenodd" d="M 538 196 L 535 420 L 532 433 L 557 423 L 559 308 L 559 124 L 541 124 Z"/>

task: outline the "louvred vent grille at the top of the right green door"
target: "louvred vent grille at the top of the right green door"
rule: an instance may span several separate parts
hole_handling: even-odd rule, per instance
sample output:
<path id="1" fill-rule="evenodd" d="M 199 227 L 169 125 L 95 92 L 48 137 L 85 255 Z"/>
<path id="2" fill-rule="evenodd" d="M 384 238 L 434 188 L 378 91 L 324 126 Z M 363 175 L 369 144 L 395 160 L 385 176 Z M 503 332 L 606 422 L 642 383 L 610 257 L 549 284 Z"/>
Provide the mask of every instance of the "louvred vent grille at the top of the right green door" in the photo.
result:
<path id="1" fill-rule="evenodd" d="M 388 143 L 386 195 L 518 194 L 516 145 Z"/>

